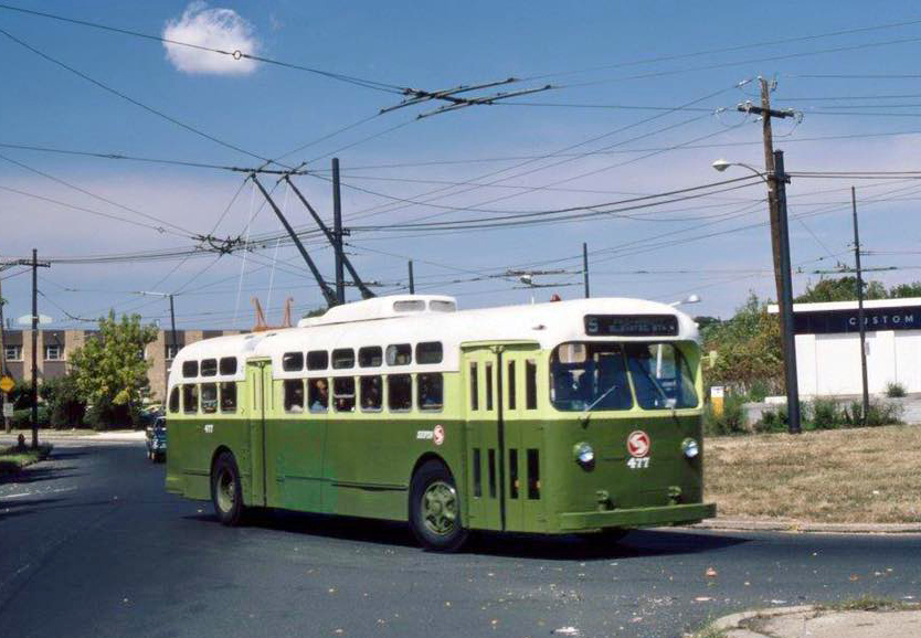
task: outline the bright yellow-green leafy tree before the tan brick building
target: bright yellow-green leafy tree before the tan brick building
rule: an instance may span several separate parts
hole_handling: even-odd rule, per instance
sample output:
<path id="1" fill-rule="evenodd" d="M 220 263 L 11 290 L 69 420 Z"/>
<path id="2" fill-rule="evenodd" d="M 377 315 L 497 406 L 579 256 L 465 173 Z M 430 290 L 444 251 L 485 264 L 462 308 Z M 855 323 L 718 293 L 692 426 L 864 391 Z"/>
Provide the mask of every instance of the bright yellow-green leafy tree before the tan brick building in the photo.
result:
<path id="1" fill-rule="evenodd" d="M 141 326 L 140 316 L 121 316 L 115 311 L 99 319 L 99 331 L 71 357 L 77 387 L 92 404 L 89 421 L 94 427 L 137 421 L 141 400 L 149 391 L 144 349 L 157 339 L 157 329 Z"/>

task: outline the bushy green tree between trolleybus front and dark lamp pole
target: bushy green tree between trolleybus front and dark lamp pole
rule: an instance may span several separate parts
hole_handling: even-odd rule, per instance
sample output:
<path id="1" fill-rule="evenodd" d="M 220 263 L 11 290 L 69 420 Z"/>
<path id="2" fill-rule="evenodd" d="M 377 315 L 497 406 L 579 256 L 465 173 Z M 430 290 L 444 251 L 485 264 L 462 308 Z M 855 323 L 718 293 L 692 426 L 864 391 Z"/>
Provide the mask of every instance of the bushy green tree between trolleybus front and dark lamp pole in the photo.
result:
<path id="1" fill-rule="evenodd" d="M 781 327 L 777 316 L 768 313 L 766 301 L 752 293 L 731 319 L 711 323 L 702 332 L 703 351 L 717 353 L 705 370 L 708 383 L 741 392 L 755 386 L 766 393 L 783 389 Z"/>

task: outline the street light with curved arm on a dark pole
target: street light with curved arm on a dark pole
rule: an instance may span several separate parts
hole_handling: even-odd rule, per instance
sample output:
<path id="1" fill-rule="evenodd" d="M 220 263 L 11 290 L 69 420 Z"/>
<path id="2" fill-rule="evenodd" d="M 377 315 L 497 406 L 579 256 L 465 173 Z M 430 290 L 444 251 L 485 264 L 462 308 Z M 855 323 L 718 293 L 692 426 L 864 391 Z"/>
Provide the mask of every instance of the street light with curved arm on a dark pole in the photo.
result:
<path id="1" fill-rule="evenodd" d="M 752 171 L 769 189 L 769 205 L 776 206 L 777 240 L 780 244 L 779 255 L 775 258 L 780 262 L 780 299 L 777 305 L 781 311 L 781 333 L 783 337 L 783 360 L 784 381 L 786 384 L 786 414 L 790 421 L 790 434 L 800 434 L 800 386 L 796 374 L 796 338 L 793 328 L 793 278 L 790 265 L 790 228 L 786 214 L 786 182 L 790 178 L 783 170 L 783 151 L 774 151 L 774 171 L 763 172 L 743 162 L 730 162 L 718 159 L 712 164 L 714 170 L 723 172 L 732 166 L 742 167 Z M 771 198 L 773 190 L 774 196 Z M 776 267 L 775 262 L 775 267 Z"/>

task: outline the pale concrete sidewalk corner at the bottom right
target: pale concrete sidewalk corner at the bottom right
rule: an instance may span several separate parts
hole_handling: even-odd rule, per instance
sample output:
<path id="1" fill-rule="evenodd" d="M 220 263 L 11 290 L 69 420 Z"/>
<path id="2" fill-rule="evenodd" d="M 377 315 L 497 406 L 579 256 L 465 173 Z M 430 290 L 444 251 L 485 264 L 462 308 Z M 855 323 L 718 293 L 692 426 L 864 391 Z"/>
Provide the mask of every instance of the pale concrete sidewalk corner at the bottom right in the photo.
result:
<path id="1" fill-rule="evenodd" d="M 700 636 L 726 638 L 915 638 L 921 609 L 830 610 L 783 607 L 724 616 Z"/>

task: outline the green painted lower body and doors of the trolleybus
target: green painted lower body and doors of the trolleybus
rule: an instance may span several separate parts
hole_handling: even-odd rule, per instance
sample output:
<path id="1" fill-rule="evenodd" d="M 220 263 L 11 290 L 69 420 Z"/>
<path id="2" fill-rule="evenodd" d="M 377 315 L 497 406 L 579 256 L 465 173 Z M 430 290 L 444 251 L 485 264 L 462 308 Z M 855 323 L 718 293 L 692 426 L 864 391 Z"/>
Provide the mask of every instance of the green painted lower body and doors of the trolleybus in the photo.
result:
<path id="1" fill-rule="evenodd" d="M 697 368 L 696 347 L 685 350 Z M 272 379 L 267 360 L 251 361 L 246 381 L 237 383 L 235 414 L 169 415 L 167 489 L 210 499 L 211 464 L 227 449 L 247 506 L 406 520 L 413 471 L 436 457 L 455 477 L 470 529 L 557 534 L 714 514 L 701 502 L 699 408 L 559 412 L 549 400 L 549 352 L 528 342 L 472 344 L 460 362 L 459 373 L 444 373 L 444 412 L 288 414 L 283 382 Z M 527 401 L 529 364 L 537 379 L 533 405 Z M 441 444 L 436 426 L 444 432 Z M 652 450 L 648 467 L 631 468 L 626 440 L 637 429 L 647 433 Z M 695 459 L 681 450 L 688 437 L 701 444 Z M 594 448 L 591 467 L 575 462 L 579 443 Z"/>

